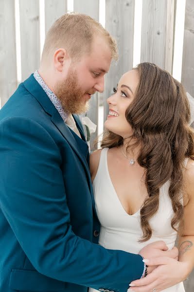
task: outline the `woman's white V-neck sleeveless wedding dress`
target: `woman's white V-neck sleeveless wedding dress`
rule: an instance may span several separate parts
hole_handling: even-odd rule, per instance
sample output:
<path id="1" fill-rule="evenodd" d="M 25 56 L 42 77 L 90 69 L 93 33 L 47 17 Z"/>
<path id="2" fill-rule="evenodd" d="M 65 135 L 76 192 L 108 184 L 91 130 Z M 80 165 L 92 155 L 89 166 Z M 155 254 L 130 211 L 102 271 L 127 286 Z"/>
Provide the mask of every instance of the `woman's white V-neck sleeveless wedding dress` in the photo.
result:
<path id="1" fill-rule="evenodd" d="M 142 235 L 140 210 L 133 215 L 128 215 L 123 209 L 108 172 L 107 151 L 108 148 L 101 151 L 98 171 L 93 181 L 96 212 L 101 223 L 99 244 L 107 249 L 138 254 L 148 243 L 163 240 L 168 248 L 172 249 L 175 246 L 176 231 L 171 227 L 173 208 L 168 195 L 169 182 L 160 188 L 159 210 L 150 220 L 152 237 L 140 243 L 138 242 Z M 96 291 L 89 289 L 89 292 Z M 185 290 L 181 282 L 163 292 L 185 292 Z"/>

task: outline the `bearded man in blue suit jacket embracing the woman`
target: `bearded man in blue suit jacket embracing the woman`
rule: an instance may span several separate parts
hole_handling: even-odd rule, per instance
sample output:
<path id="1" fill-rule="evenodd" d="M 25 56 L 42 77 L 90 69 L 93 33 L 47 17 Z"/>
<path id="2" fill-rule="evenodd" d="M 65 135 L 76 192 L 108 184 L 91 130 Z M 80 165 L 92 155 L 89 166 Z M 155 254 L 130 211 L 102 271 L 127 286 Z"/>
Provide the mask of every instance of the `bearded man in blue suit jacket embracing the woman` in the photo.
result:
<path id="1" fill-rule="evenodd" d="M 40 69 L 0 110 L 0 292 L 125 292 L 144 275 L 140 255 L 94 244 L 100 224 L 88 146 L 71 115 L 104 90 L 114 57 L 98 22 L 65 15 L 48 32 Z M 160 249 L 162 242 L 141 255 L 162 256 Z"/>

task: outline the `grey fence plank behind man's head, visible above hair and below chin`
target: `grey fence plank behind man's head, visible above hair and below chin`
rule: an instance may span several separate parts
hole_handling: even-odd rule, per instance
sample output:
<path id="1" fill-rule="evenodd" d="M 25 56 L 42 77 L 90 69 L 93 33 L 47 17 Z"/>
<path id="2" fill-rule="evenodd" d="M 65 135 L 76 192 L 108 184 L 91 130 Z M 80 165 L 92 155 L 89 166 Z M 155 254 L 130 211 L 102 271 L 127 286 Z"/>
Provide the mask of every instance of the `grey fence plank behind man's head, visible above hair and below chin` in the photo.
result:
<path id="1" fill-rule="evenodd" d="M 99 21 L 99 0 L 74 0 L 73 10 L 78 13 L 87 14 L 88 16 Z M 96 132 L 91 134 L 90 145 L 93 149 L 93 141 L 97 137 L 98 133 L 98 107 L 99 107 L 99 94 L 95 93 L 90 100 L 90 107 L 87 112 L 88 118 L 97 125 Z"/>

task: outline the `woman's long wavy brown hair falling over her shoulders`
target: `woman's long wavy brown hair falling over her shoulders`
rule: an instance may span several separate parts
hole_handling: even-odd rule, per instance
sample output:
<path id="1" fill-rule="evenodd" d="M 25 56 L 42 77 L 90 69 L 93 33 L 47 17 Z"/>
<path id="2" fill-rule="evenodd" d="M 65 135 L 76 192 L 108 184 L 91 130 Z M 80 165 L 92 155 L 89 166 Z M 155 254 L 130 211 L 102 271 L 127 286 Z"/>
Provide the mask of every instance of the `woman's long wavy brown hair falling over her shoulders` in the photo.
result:
<path id="1" fill-rule="evenodd" d="M 140 242 L 152 236 L 149 220 L 159 209 L 159 188 L 170 180 L 169 196 L 174 217 L 171 226 L 183 218 L 183 174 L 185 158 L 194 160 L 194 130 L 189 126 L 190 106 L 186 92 L 170 73 L 152 63 L 141 63 L 139 85 L 135 98 L 125 112 L 133 130 L 132 149 L 140 146 L 138 163 L 145 168 L 148 197 L 141 207 Z M 106 131 L 101 143 L 104 147 L 123 145 L 123 137 Z"/>

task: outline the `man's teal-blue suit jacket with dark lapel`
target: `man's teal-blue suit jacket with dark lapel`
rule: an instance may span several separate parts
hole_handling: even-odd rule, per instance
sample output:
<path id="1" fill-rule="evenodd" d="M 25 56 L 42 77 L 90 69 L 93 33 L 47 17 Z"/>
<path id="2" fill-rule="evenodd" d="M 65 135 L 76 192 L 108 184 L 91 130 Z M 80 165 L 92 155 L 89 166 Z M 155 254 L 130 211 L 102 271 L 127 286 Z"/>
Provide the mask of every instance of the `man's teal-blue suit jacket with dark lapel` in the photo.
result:
<path id="1" fill-rule="evenodd" d="M 83 139 L 33 74 L 0 110 L 0 292 L 126 292 L 141 277 L 141 256 L 97 244 L 88 146 L 74 119 Z"/>

